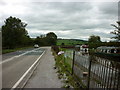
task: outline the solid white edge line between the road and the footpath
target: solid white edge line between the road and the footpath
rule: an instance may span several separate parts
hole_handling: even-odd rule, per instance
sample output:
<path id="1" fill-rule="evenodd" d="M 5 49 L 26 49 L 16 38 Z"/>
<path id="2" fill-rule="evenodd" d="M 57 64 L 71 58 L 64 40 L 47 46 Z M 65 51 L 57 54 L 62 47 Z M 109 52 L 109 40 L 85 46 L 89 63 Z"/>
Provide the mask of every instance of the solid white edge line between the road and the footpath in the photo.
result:
<path id="1" fill-rule="evenodd" d="M 44 53 L 45 53 L 45 51 L 38 57 L 38 59 L 31 65 L 31 67 L 23 74 L 23 76 L 14 84 L 14 86 L 11 88 L 11 90 L 14 90 L 15 88 L 17 88 L 17 86 L 20 84 L 20 82 L 29 73 L 29 71 L 37 64 L 37 62 L 40 60 L 40 58 L 43 56 Z"/>

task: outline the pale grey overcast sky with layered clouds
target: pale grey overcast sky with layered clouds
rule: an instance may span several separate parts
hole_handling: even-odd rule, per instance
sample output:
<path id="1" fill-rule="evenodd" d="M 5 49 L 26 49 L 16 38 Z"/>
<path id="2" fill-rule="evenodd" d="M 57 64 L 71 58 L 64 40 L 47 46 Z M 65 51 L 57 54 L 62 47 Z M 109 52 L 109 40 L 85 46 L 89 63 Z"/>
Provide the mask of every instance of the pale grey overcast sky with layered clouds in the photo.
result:
<path id="1" fill-rule="evenodd" d="M 27 23 L 30 37 L 54 32 L 58 38 L 109 41 L 118 21 L 117 0 L 0 0 L 0 27 L 13 16 Z"/>

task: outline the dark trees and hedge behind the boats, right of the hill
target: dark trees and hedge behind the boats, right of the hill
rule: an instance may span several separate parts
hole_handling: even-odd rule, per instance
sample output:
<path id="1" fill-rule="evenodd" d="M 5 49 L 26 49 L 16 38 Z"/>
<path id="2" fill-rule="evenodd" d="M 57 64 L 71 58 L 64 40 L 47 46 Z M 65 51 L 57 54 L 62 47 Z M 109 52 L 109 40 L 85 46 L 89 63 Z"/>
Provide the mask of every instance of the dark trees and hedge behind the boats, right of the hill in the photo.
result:
<path id="1" fill-rule="evenodd" d="M 111 26 L 113 26 L 115 30 L 110 32 L 110 34 L 114 35 L 114 37 L 111 37 L 111 39 L 114 39 L 114 41 L 102 42 L 100 36 L 91 35 L 88 39 L 89 47 L 90 48 L 97 48 L 99 46 L 120 47 L 120 21 L 117 21 L 116 23 L 117 25 L 111 24 Z"/>

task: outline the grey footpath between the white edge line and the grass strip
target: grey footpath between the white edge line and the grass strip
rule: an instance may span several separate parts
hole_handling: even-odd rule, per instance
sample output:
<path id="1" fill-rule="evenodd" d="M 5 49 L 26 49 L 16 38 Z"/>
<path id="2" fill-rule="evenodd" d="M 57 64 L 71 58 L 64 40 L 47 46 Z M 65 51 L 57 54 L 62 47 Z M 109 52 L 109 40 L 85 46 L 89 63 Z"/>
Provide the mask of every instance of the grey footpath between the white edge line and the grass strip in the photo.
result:
<path id="1" fill-rule="evenodd" d="M 61 88 L 63 86 L 57 77 L 57 70 L 54 69 L 55 60 L 51 48 L 45 48 L 45 54 L 24 88 Z"/>

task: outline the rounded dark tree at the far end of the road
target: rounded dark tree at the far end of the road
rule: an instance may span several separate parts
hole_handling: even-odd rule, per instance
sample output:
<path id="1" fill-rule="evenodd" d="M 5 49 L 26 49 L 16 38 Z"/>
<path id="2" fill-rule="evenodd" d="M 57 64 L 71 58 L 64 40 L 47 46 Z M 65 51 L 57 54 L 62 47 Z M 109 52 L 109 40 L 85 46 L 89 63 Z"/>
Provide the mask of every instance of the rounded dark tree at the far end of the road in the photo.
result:
<path id="1" fill-rule="evenodd" d="M 49 32 L 46 35 L 46 41 L 48 45 L 56 45 L 57 43 L 57 35 L 53 32 Z"/>

